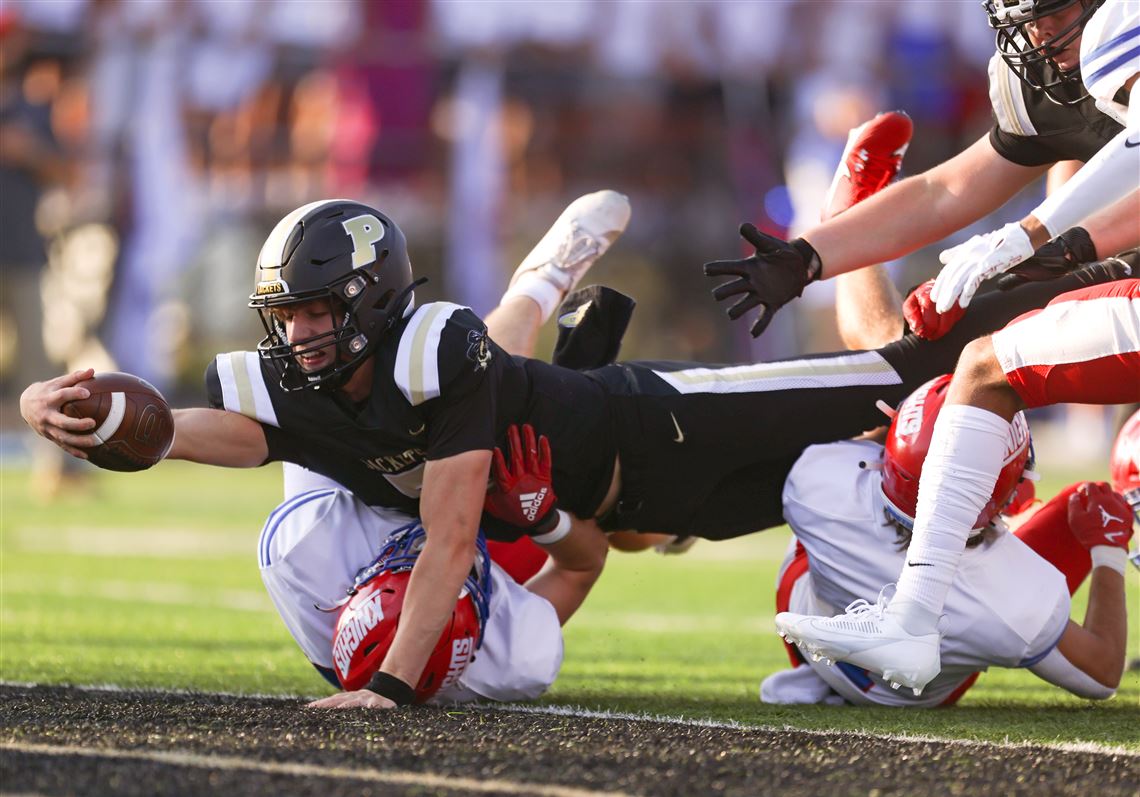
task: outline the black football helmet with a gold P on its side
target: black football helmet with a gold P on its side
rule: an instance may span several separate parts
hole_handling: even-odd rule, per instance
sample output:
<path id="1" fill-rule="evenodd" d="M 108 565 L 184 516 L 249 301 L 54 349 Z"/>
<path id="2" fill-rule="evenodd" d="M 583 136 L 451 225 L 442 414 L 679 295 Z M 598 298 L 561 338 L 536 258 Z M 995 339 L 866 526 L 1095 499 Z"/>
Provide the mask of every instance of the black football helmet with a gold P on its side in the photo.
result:
<path id="1" fill-rule="evenodd" d="M 412 302 L 407 242 L 396 222 L 350 200 L 298 208 L 269 234 L 258 257 L 250 307 L 266 328 L 258 352 L 272 363 L 285 390 L 339 387 L 375 350 Z M 290 304 L 328 302 L 333 328 L 288 340 L 279 317 Z M 298 358 L 333 348 L 335 357 L 315 373 Z"/>

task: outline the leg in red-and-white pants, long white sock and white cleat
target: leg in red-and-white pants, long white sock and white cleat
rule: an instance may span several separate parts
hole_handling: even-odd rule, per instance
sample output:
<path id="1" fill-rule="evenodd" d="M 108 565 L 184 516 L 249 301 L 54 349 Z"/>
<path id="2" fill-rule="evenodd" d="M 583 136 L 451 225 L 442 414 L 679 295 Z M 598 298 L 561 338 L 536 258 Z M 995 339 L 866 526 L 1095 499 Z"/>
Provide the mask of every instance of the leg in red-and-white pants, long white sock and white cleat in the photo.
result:
<path id="1" fill-rule="evenodd" d="M 938 618 L 975 519 L 1001 471 L 1010 421 L 1027 407 L 1140 400 L 1140 280 L 1062 294 L 962 353 L 922 470 L 914 535 L 889 603 L 844 616 L 776 617 L 789 637 L 919 693 L 939 672 Z M 1123 577 L 1124 550 L 1098 548 Z"/>

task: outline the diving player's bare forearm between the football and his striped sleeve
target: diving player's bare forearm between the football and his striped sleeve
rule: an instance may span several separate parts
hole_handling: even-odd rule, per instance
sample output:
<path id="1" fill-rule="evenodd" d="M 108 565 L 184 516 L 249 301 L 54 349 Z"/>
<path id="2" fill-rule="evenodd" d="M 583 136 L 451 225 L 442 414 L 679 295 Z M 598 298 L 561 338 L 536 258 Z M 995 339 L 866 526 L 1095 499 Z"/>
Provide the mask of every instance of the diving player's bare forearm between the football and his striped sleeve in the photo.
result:
<path id="1" fill-rule="evenodd" d="M 187 460 L 222 467 L 258 467 L 269 456 L 261 424 L 227 409 L 171 410 L 174 442 L 168 460 Z"/>

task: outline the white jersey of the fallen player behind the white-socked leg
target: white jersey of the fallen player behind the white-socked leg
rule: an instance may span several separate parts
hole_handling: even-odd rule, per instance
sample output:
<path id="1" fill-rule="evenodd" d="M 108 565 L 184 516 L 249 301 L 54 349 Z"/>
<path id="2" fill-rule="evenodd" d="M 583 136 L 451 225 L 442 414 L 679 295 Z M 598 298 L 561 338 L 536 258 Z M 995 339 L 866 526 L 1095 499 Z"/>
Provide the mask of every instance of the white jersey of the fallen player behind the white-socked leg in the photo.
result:
<path id="1" fill-rule="evenodd" d="M 905 556 L 883 512 L 881 473 L 860 467 L 878 464 L 881 454 L 881 446 L 865 441 L 812 446 L 792 467 L 784 517 L 807 551 L 809 571 L 791 592 L 790 611 L 838 615 L 857 599 L 873 603 L 897 578 Z M 849 702 L 935 706 L 990 666 L 1039 661 L 1060 640 L 1068 616 L 1065 577 L 1020 539 L 1000 534 L 962 556 L 939 624 L 942 673 L 921 697 L 850 665 L 811 664 Z"/>

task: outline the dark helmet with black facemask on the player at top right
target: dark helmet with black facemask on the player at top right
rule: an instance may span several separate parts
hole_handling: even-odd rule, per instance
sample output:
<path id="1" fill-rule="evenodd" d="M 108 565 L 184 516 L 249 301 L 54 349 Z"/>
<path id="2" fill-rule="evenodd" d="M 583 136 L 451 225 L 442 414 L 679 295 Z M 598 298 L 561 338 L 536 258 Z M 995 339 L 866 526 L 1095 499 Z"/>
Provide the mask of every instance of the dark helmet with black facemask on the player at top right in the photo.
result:
<path id="1" fill-rule="evenodd" d="M 1044 91 L 1060 105 L 1075 105 L 1088 96 L 1080 68 L 1062 70 L 1054 58 L 1076 44 L 1085 23 L 1105 0 L 984 0 L 990 26 L 996 31 L 997 52 L 1021 82 Z M 1037 21 L 1081 6 L 1072 22 L 1040 44 L 1033 44 L 1027 27 Z"/>

